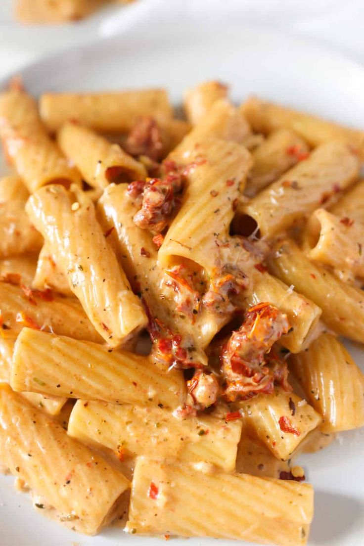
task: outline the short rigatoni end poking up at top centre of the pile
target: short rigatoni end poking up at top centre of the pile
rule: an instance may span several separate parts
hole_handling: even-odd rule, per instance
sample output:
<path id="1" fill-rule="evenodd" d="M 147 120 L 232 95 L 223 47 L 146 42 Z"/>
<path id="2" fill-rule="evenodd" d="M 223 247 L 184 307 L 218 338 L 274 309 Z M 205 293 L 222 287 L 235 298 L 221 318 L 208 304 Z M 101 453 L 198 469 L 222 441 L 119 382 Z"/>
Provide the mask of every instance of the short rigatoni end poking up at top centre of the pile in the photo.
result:
<path id="1" fill-rule="evenodd" d="M 199 84 L 184 93 L 183 106 L 187 119 L 196 125 L 219 99 L 228 98 L 229 88 L 220 81 L 212 80 Z"/>

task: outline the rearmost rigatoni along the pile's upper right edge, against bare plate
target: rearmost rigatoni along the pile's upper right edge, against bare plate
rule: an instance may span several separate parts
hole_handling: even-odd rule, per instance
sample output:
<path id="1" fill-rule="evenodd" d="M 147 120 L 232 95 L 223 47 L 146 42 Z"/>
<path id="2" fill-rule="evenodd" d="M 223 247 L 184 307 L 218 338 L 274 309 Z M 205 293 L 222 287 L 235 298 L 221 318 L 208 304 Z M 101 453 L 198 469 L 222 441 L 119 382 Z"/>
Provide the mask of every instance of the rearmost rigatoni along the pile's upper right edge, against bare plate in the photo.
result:
<path id="1" fill-rule="evenodd" d="M 281 127 L 293 129 L 311 146 L 319 146 L 330 140 L 342 140 L 363 156 L 364 132 L 361 130 L 343 127 L 256 97 L 246 100 L 241 110 L 255 131 L 269 134 Z"/>

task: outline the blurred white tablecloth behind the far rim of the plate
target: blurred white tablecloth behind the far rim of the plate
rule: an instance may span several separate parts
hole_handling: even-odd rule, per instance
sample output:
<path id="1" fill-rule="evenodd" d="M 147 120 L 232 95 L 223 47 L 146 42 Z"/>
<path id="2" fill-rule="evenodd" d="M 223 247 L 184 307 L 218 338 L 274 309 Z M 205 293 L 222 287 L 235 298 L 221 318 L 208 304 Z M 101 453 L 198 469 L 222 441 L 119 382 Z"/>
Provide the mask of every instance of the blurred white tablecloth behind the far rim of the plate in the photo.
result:
<path id="1" fill-rule="evenodd" d="M 201 25 L 217 10 L 224 25 L 229 25 L 231 17 L 238 13 L 247 26 L 307 38 L 364 64 L 362 0 L 139 0 L 127 7 L 110 6 L 85 21 L 52 26 L 16 22 L 14 2 L 0 0 L 0 78 L 41 55 L 138 25 L 149 10 L 178 10 L 181 16 L 189 11 L 199 17 Z"/>

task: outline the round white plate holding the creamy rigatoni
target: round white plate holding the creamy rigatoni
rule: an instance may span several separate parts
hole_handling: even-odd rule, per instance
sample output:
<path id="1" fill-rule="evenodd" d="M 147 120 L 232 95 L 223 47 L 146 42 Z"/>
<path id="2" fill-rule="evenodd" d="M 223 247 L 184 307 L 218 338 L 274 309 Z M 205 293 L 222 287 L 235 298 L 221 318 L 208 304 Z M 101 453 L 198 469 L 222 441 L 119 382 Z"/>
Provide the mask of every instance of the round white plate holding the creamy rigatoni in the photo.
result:
<path id="1" fill-rule="evenodd" d="M 232 84 L 233 96 L 249 93 L 317 112 L 333 120 L 364 126 L 364 70 L 355 63 L 290 37 L 246 29 L 221 14 L 158 9 L 122 36 L 96 40 L 46 58 L 23 70 L 29 91 L 101 90 L 164 85 L 175 102 L 187 86 L 208 78 Z M 5 82 L 3 82 L 5 84 Z M 0 82 L 1 86 L 1 82 Z M 354 349 L 356 361 L 363 353 Z M 342 434 L 323 452 L 302 457 L 315 488 L 315 519 L 310 546 L 361 546 L 364 543 L 364 434 Z M 274 499 L 272 499 L 274 502 Z M 156 538 L 127 536 L 111 529 L 84 537 L 33 512 L 13 478 L 0 478 L 2 546 L 164 546 Z M 211 539 L 174 539 L 174 546 L 211 546 Z M 236 542 L 220 541 L 220 546 Z"/>

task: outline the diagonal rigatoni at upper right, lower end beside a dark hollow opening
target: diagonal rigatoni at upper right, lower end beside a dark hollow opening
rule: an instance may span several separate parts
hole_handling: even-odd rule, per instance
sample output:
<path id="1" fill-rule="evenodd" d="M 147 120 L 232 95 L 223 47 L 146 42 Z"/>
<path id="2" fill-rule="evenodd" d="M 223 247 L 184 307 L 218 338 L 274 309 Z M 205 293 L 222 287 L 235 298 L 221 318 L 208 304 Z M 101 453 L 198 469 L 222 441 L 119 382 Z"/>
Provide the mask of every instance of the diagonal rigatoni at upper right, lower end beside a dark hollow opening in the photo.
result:
<path id="1" fill-rule="evenodd" d="M 355 182 L 359 169 L 359 159 L 347 144 L 321 144 L 308 159 L 241 206 L 240 212 L 254 218 L 262 236 L 272 237 L 320 205 L 328 206 Z"/>

